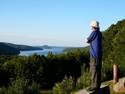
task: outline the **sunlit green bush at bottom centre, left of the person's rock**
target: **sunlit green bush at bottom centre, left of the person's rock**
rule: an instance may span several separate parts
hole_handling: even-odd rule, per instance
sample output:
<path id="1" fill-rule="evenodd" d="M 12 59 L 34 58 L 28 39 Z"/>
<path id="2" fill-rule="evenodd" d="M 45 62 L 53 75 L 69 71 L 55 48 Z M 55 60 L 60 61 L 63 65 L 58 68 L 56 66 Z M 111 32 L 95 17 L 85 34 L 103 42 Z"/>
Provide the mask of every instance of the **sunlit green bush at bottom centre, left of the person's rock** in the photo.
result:
<path id="1" fill-rule="evenodd" d="M 65 77 L 61 83 L 56 83 L 53 87 L 54 94 L 70 94 L 74 89 L 74 81 L 72 77 Z"/>

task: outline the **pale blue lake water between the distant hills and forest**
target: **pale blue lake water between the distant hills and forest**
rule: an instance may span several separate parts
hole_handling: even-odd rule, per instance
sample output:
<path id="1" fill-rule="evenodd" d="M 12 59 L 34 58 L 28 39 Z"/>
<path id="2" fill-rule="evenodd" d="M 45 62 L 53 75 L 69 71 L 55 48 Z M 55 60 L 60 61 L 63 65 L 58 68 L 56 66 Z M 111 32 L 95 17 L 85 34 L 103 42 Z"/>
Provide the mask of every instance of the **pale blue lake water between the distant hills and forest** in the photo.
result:
<path id="1" fill-rule="evenodd" d="M 63 48 L 63 47 L 54 47 L 52 49 L 20 51 L 19 55 L 21 55 L 21 56 L 30 56 L 30 55 L 33 55 L 33 54 L 37 54 L 37 55 L 45 55 L 45 56 L 47 56 L 49 52 L 52 52 L 53 54 L 63 53 L 64 49 L 65 48 Z"/>

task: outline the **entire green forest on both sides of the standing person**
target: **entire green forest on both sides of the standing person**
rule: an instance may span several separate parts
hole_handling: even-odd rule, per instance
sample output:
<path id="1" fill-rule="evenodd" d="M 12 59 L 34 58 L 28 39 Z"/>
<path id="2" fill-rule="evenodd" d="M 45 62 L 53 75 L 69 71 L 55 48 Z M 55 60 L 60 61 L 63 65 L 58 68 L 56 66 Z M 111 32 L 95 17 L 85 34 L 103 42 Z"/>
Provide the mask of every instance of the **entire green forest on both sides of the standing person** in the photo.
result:
<path id="1" fill-rule="evenodd" d="M 103 31 L 102 81 L 125 76 L 125 20 Z M 0 94 L 70 94 L 90 84 L 89 48 L 47 56 L 0 56 Z"/>

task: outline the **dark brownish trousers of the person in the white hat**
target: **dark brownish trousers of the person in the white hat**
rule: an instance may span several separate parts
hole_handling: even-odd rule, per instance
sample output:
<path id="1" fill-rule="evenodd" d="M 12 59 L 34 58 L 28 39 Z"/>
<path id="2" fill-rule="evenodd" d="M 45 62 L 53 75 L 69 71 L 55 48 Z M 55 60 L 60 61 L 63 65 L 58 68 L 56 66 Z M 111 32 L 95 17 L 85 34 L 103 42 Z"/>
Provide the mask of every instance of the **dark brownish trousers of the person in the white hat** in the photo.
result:
<path id="1" fill-rule="evenodd" d="M 99 89 L 101 85 L 102 59 L 90 58 L 91 88 Z"/>

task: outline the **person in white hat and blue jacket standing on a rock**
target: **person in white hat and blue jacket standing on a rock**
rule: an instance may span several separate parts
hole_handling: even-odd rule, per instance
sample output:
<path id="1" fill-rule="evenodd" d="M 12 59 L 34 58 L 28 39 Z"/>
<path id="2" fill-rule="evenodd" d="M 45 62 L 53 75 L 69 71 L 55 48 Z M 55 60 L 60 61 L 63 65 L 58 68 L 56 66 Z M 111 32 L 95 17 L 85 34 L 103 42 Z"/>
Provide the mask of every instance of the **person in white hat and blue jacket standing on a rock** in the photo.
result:
<path id="1" fill-rule="evenodd" d="M 90 26 L 92 32 L 87 38 L 87 43 L 90 44 L 91 86 L 88 91 L 97 91 L 101 85 L 102 33 L 98 21 L 92 21 Z"/>

